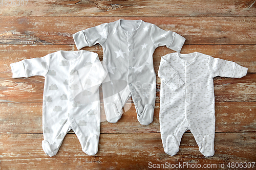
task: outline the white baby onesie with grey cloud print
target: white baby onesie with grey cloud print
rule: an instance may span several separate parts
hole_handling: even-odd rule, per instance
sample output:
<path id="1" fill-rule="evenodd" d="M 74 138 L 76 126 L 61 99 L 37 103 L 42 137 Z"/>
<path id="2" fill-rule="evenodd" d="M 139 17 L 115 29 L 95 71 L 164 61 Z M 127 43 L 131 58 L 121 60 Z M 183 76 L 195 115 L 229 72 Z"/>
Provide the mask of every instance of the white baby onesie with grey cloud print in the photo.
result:
<path id="1" fill-rule="evenodd" d="M 44 76 L 42 104 L 42 149 L 54 156 L 71 129 L 82 151 L 98 152 L 100 134 L 99 86 L 106 72 L 98 54 L 88 51 L 58 51 L 45 57 L 11 64 L 13 78 Z"/>

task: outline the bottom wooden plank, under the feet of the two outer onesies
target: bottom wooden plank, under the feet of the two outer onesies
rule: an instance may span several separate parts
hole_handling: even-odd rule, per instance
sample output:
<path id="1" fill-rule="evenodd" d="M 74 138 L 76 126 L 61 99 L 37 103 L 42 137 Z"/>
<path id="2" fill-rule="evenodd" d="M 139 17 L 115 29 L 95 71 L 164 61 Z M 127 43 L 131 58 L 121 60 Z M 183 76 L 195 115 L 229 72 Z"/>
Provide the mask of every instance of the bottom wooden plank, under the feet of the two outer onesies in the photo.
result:
<path id="1" fill-rule="evenodd" d="M 181 140 L 180 151 L 169 156 L 163 151 L 160 133 L 101 134 L 98 153 L 83 153 L 75 134 L 68 134 L 57 155 L 46 156 L 41 148 L 41 134 L 0 135 L 3 169 L 149 169 L 148 163 L 217 164 L 255 162 L 256 133 L 217 133 L 215 156 L 206 158 L 190 133 Z M 193 161 L 191 161 L 193 160 Z M 214 167 L 214 166 L 213 166 Z M 255 165 L 254 165 L 255 167 Z M 187 166 L 176 169 L 188 169 Z M 194 168 L 195 169 L 195 168 Z"/>

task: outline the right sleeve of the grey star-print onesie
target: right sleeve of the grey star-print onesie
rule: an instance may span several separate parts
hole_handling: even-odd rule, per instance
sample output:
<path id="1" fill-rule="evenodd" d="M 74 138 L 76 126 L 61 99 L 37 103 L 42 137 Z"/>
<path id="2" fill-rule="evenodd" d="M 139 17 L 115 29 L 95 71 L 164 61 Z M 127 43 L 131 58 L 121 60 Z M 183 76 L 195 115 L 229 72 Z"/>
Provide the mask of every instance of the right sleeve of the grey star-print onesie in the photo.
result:
<path id="1" fill-rule="evenodd" d="M 167 48 L 170 48 L 176 52 L 181 51 L 181 48 L 186 40 L 179 34 L 172 31 L 162 30 L 156 25 L 152 25 L 150 34 L 156 47 L 165 45 Z"/>

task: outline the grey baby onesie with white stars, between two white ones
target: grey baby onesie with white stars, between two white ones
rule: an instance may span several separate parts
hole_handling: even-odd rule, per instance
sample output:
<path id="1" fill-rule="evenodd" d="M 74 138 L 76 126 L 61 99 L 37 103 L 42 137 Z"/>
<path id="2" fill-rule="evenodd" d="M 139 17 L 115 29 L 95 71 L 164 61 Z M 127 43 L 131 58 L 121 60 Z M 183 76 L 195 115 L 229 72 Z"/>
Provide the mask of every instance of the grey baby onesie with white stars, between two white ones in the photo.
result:
<path id="1" fill-rule="evenodd" d="M 116 123 L 122 107 L 132 96 L 142 125 L 153 121 L 156 74 L 153 53 L 158 46 L 180 52 L 185 38 L 142 20 L 117 20 L 73 35 L 78 49 L 99 43 L 108 75 L 102 83 L 106 119 Z"/>

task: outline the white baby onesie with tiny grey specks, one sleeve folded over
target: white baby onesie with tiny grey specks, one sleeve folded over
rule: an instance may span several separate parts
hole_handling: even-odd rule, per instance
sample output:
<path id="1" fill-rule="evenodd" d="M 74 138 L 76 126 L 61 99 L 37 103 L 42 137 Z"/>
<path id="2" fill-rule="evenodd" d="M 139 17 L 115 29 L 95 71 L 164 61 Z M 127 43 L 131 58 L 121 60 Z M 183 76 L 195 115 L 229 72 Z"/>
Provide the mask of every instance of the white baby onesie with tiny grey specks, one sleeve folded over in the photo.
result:
<path id="1" fill-rule="evenodd" d="M 216 76 L 241 78 L 247 68 L 198 52 L 161 57 L 160 131 L 164 152 L 175 155 L 188 129 L 204 156 L 214 155 Z"/>

